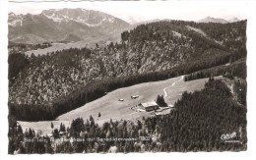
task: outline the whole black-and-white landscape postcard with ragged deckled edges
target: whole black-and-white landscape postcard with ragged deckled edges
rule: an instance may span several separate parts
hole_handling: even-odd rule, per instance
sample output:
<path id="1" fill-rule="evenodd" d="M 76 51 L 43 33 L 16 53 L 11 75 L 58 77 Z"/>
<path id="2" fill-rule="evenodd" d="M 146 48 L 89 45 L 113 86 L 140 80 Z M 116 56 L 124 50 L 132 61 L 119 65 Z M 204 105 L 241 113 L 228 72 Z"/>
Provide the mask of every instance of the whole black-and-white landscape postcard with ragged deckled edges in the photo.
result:
<path id="1" fill-rule="evenodd" d="M 7 2 L 8 154 L 246 152 L 249 5 Z"/>

